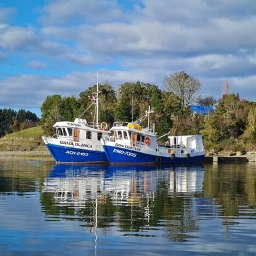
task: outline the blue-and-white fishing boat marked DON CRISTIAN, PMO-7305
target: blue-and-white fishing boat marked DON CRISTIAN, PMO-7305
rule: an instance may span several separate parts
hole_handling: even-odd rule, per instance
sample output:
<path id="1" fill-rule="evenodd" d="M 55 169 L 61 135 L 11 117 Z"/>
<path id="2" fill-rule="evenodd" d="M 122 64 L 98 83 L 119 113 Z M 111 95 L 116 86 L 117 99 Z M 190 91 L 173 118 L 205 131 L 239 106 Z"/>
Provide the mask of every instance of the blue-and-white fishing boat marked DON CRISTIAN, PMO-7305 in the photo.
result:
<path id="1" fill-rule="evenodd" d="M 157 143 L 154 127 L 150 128 L 150 107 L 145 116 L 131 123 L 115 122 L 109 130 L 112 136 L 101 139 L 111 164 L 183 164 L 204 161 L 202 136 L 168 136 L 168 145 Z M 147 127 L 140 124 L 148 118 Z M 164 134 L 167 136 L 168 134 Z"/>

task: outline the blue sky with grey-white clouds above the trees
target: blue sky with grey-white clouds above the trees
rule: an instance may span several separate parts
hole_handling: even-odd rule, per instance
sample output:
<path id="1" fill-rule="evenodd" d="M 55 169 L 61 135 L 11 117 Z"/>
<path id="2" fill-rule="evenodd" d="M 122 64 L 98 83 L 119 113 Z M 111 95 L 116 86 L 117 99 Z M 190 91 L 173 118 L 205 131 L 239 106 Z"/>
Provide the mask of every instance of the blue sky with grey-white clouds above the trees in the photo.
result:
<path id="1" fill-rule="evenodd" d="M 184 71 L 202 97 L 256 101 L 255 0 L 1 0 L 0 108 Z"/>

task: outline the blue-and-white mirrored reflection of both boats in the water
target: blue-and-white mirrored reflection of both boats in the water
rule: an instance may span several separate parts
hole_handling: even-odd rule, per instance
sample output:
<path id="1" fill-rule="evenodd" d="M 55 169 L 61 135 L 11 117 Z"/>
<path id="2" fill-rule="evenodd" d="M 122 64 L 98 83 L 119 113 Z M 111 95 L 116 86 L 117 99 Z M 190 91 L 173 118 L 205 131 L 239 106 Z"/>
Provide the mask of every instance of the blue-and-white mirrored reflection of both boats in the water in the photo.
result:
<path id="1" fill-rule="evenodd" d="M 138 204 L 159 186 L 168 194 L 202 192 L 204 166 L 109 166 L 56 164 L 45 179 L 43 192 L 54 193 L 60 204 L 92 202 L 96 198 L 114 205 Z"/>

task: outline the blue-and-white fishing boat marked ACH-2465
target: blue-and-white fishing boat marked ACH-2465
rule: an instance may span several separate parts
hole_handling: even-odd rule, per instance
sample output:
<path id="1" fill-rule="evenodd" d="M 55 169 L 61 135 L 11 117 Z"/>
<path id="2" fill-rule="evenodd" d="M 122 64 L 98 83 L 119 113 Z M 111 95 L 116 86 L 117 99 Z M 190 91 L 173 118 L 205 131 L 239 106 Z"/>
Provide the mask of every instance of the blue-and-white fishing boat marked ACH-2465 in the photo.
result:
<path id="1" fill-rule="evenodd" d="M 92 93 L 89 99 L 95 106 L 96 122 L 87 122 L 81 116 L 88 110 L 86 109 L 74 122 L 56 122 L 53 125 L 56 134 L 53 136 L 42 136 L 56 163 L 108 163 L 108 158 L 100 142 L 101 138 L 109 136 L 108 124 L 99 123 L 99 89 Z"/>

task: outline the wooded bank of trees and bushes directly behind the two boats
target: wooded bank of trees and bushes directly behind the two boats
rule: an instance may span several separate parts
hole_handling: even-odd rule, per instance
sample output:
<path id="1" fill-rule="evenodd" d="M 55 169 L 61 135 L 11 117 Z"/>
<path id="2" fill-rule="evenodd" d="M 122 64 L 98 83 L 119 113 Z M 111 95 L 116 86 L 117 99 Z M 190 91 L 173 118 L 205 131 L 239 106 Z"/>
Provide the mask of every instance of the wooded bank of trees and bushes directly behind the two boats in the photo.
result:
<path id="1" fill-rule="evenodd" d="M 203 134 L 207 150 L 245 150 L 254 148 L 256 142 L 256 102 L 240 99 L 238 94 L 224 93 L 220 99 L 200 95 L 198 79 L 186 72 L 176 72 L 164 79 L 164 90 L 156 84 L 143 82 L 124 83 L 117 90 L 109 82 L 99 84 L 99 122 L 109 126 L 115 121 L 131 122 L 145 115 L 148 106 L 154 111 L 150 116 L 161 136 L 171 134 Z M 90 95 L 96 84 L 70 97 L 49 95 L 42 104 L 41 124 L 45 134 L 51 135 L 52 125 L 58 121 L 74 121 L 92 103 Z M 190 104 L 214 106 L 209 115 L 196 115 Z M 81 118 L 95 121 L 93 110 Z M 164 140 L 164 138 L 163 138 Z M 165 138 L 166 140 L 166 138 Z"/>

